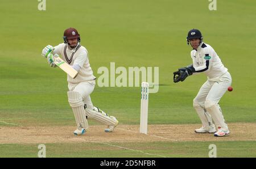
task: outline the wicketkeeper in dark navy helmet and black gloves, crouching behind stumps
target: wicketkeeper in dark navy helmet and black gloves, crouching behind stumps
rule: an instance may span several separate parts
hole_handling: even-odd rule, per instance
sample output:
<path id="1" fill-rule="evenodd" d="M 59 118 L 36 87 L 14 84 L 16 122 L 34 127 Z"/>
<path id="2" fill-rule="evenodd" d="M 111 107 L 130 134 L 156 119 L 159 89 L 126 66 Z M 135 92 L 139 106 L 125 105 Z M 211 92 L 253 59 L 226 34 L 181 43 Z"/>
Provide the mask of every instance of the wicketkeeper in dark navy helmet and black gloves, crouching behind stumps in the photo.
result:
<path id="1" fill-rule="evenodd" d="M 220 102 L 221 97 L 231 85 L 232 78 L 214 49 L 203 42 L 203 36 L 198 29 L 191 29 L 188 32 L 187 43 L 192 47 L 191 58 L 193 64 L 175 71 L 174 82 L 183 82 L 189 75 L 201 72 L 208 77 L 208 80 L 201 86 L 196 98 L 193 100 L 193 107 L 196 109 L 203 124 L 195 132 L 214 133 L 214 136 L 227 136 L 230 134 L 229 128 L 218 102 Z"/>

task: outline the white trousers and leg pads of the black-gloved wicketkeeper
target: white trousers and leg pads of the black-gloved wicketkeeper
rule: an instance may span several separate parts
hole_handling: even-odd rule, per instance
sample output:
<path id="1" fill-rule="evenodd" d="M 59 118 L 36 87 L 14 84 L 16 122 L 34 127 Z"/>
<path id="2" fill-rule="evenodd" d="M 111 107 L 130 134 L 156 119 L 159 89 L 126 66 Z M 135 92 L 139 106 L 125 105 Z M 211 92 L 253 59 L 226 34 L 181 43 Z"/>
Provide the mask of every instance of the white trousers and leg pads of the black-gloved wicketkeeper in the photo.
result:
<path id="1" fill-rule="evenodd" d="M 227 71 L 220 78 L 211 81 L 208 79 L 201 86 L 198 94 L 193 100 L 193 107 L 196 109 L 203 126 L 211 125 L 212 120 L 216 128 L 228 129 L 221 112 L 220 99 L 232 83 L 230 73 Z"/>

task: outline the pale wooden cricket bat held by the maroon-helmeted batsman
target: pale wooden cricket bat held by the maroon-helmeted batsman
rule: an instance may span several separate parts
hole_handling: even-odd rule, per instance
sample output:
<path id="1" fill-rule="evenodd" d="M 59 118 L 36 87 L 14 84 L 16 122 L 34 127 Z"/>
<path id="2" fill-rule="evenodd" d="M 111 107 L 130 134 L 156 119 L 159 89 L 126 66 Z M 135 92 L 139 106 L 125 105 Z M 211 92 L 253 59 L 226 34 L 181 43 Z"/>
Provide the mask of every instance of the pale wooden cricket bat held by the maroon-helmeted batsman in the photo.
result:
<path id="1" fill-rule="evenodd" d="M 59 54 L 55 54 L 53 56 L 54 58 L 54 63 L 55 65 L 57 65 L 58 67 L 60 67 L 60 69 L 62 69 L 63 71 L 65 71 L 65 73 L 67 73 L 68 75 L 70 75 L 73 79 L 77 77 L 78 72 L 71 66 L 68 65 L 64 60 L 62 60 L 59 57 Z"/>

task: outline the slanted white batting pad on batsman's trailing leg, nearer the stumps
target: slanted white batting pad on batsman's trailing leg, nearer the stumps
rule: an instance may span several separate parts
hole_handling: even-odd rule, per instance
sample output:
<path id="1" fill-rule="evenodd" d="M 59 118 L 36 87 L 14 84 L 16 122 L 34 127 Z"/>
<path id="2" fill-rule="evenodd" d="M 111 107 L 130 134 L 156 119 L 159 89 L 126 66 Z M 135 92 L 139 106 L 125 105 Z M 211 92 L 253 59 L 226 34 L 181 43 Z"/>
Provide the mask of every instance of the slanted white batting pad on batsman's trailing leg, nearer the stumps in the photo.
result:
<path id="1" fill-rule="evenodd" d="M 100 121 L 105 125 L 116 125 L 118 122 L 117 119 L 115 119 L 112 116 L 109 116 L 107 113 L 105 113 L 104 111 L 101 111 L 101 109 L 99 108 L 94 108 L 94 109 L 86 108 L 85 112 L 89 118 Z"/>

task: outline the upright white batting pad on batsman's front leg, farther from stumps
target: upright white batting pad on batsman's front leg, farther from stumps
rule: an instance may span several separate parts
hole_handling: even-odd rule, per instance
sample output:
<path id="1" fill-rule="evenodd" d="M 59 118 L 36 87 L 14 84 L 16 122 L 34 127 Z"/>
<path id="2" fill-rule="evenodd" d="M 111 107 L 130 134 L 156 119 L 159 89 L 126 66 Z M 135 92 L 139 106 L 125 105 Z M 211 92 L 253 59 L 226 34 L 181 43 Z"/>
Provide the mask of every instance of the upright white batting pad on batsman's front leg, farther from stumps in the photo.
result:
<path id="1" fill-rule="evenodd" d="M 89 126 L 85 116 L 84 102 L 82 102 L 82 96 L 79 92 L 68 91 L 68 102 L 73 110 L 77 128 L 84 128 L 85 130 L 88 129 Z"/>

